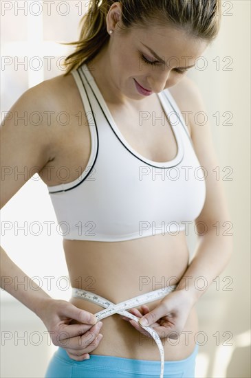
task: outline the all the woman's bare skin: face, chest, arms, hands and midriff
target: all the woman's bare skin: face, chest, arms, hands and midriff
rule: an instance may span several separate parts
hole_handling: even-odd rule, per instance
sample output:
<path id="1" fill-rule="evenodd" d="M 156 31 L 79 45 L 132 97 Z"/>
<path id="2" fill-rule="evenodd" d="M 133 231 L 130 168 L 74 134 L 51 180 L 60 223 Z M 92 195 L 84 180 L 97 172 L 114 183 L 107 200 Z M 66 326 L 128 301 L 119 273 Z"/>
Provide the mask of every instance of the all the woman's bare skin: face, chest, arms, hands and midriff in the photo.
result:
<path id="1" fill-rule="evenodd" d="M 206 49 L 207 42 L 193 38 L 182 30 L 157 25 L 147 29 L 133 29 L 129 34 L 124 35 L 118 32 L 120 22 L 120 3 L 113 3 L 107 14 L 107 32 L 113 30 L 113 34 L 107 47 L 102 49 L 88 67 L 116 124 L 129 144 L 136 151 L 156 162 L 167 161 L 175 155 L 175 139 L 170 127 L 154 129 L 151 120 L 142 127 L 138 126 L 139 111 L 145 109 L 162 111 L 156 93 L 172 88 L 171 94 L 181 111 L 189 110 L 193 114 L 198 111 L 206 112 L 197 87 L 192 80 L 185 77 L 185 74 L 177 73 L 177 68 L 186 65 L 184 56 L 190 57 L 188 65 L 193 65 Z M 164 58 L 166 65 L 141 65 L 142 60 L 138 50 L 149 60 L 155 58 L 140 42 L 154 49 Z M 170 60 L 173 56 L 177 60 Z M 144 97 L 138 93 L 133 78 L 143 87 L 151 88 L 153 95 Z M 32 112 L 34 98 L 36 98 L 36 109 L 41 112 L 48 109 L 54 109 L 55 113 L 67 111 L 71 114 L 83 111 L 83 103 L 71 75 L 46 80 L 30 89 L 10 110 Z M 37 126 L 32 128 L 31 125 L 29 128 L 17 128 L 12 120 L 6 121 L 2 126 L 2 140 L 6 146 L 2 153 L 3 166 L 19 166 L 20 170 L 22 166 L 28 168 L 36 166 L 41 179 L 49 186 L 60 184 L 61 181 L 53 173 L 56 169 L 52 170 L 50 179 L 46 177 L 47 169 L 67 166 L 71 175 L 68 181 L 64 182 L 73 181 L 80 174 L 74 167 L 81 166 L 83 172 L 90 154 L 91 142 L 88 124 L 85 121 L 83 125 L 87 126 L 81 129 L 76 126 L 76 122 L 63 129 L 53 118 L 51 128 L 46 124 L 39 128 Z M 91 276 L 95 278 L 96 293 L 114 303 L 160 288 L 150 285 L 140 291 L 138 285 L 140 276 L 154 276 L 157 281 L 160 281 L 159 278 L 162 276 L 175 276 L 177 282 L 172 282 L 172 285 L 179 282 L 175 292 L 161 301 L 131 309 L 131 313 L 139 317 L 146 315 L 150 325 L 164 341 L 177 338 L 182 331 L 190 331 L 194 334 L 197 332 L 197 314 L 194 305 L 207 288 L 195 290 L 193 281 L 198 276 L 204 276 L 210 285 L 228 263 L 232 247 L 230 238 L 221 236 L 224 230 L 220 228 L 222 231 L 220 236 L 215 237 L 215 227 L 213 227 L 217 221 L 222 225 L 229 219 L 229 214 L 221 182 L 215 181 L 215 175 L 212 173 L 219 164 L 212 145 L 210 126 L 206 124 L 198 127 L 191 117 L 188 130 L 199 162 L 208 171 L 206 202 L 201 214 L 195 220 L 196 224 L 200 221 L 206 222 L 208 232 L 198 237 L 196 254 L 190 264 L 184 232 L 180 232 L 177 236 L 156 235 L 114 243 L 63 241 L 72 287 L 76 287 L 76 279 L 79 276 L 83 277 L 83 281 Z M 15 154 L 10 151 L 15 151 Z M 34 174 L 34 170 L 32 173 Z M 3 181 L 1 205 L 5 205 L 23 184 L 25 181 L 22 181 L 21 175 L 17 179 L 7 177 Z M 10 262 L 3 249 L 2 255 L 5 261 L 3 274 L 6 272 L 6 276 L 10 276 L 12 269 L 15 276 L 23 276 L 23 272 Z M 213 265 L 211 261 L 214 261 Z M 188 289 L 184 287 L 183 276 L 192 278 Z M 88 290 L 86 282 L 83 282 L 81 287 Z M 9 290 L 11 291 L 10 287 Z M 12 293 L 14 295 L 14 289 Z M 54 332 L 52 335 L 54 344 L 65 348 L 69 357 L 76 361 L 85 359 L 88 353 L 160 360 L 157 346 L 151 342 L 149 334 L 138 323 L 128 322 L 127 318 L 122 318 L 118 314 L 102 320 L 103 338 L 100 342 L 97 339 L 100 329 L 97 324 L 91 326 L 95 320 L 91 322 L 89 319 L 91 314 L 102 310 L 96 304 L 77 298 L 71 298 L 69 302 L 54 300 L 43 291 L 40 291 L 39 300 L 34 292 L 29 290 L 19 291 L 15 296 L 19 296 L 21 302 L 39 315 L 47 329 Z M 67 331 L 69 334 L 69 338 L 65 340 L 67 346 L 61 343 L 63 340 L 58 342 L 56 338 L 61 331 Z M 141 348 L 140 333 L 145 337 Z M 175 346 L 165 342 L 166 360 L 186 358 L 192 353 L 194 346 L 193 340 L 187 345 L 182 335 Z"/>

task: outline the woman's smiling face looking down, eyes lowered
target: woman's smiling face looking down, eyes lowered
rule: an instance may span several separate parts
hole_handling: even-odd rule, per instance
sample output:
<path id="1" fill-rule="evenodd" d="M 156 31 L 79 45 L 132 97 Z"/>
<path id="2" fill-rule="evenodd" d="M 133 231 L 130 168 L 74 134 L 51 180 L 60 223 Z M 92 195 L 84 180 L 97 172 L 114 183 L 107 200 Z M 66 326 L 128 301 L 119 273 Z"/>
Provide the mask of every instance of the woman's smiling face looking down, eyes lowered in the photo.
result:
<path id="1" fill-rule="evenodd" d="M 208 42 L 173 27 L 114 30 L 109 41 L 111 80 L 124 96 L 140 100 L 173 87 L 206 49 Z M 155 55 L 159 56 L 156 58 Z M 144 89 L 140 90 L 137 83 Z"/>

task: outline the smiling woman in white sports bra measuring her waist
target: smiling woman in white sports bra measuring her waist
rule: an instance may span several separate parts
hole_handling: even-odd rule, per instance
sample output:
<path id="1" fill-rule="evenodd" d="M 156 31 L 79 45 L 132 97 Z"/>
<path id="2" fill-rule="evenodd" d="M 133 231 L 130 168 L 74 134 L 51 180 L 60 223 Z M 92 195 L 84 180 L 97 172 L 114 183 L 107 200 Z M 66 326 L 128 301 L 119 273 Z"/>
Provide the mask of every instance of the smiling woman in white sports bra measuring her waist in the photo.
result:
<path id="1" fill-rule="evenodd" d="M 195 122 L 204 105 L 184 76 L 217 36 L 219 14 L 216 0 L 90 1 L 65 75 L 10 109 L 34 111 L 36 98 L 36 109 L 54 110 L 53 127 L 14 128 L 10 120 L 1 129 L 3 165 L 36 166 L 63 232 L 69 302 L 7 288 L 58 346 L 46 377 L 195 375 L 194 306 L 226 267 L 232 242 L 221 232 L 228 210 L 210 127 Z M 8 176 L 1 205 L 23 184 Z M 198 247 L 189 262 L 193 221 Z M 2 274 L 10 270 L 25 276 L 2 250 Z"/>

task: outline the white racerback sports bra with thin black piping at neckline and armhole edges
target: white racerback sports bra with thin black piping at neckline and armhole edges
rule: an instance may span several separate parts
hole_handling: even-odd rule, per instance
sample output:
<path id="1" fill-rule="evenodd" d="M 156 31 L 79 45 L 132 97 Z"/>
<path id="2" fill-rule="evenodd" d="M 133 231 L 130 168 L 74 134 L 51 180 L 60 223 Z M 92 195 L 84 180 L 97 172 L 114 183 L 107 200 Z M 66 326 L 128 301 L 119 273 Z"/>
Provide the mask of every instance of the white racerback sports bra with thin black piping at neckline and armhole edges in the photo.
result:
<path id="1" fill-rule="evenodd" d="M 177 155 L 153 162 L 124 139 L 87 65 L 71 73 L 89 122 L 91 154 L 80 177 L 47 186 L 63 238 L 126 241 L 184 231 L 204 206 L 206 184 L 171 93 L 165 89 L 157 96 L 175 135 Z"/>

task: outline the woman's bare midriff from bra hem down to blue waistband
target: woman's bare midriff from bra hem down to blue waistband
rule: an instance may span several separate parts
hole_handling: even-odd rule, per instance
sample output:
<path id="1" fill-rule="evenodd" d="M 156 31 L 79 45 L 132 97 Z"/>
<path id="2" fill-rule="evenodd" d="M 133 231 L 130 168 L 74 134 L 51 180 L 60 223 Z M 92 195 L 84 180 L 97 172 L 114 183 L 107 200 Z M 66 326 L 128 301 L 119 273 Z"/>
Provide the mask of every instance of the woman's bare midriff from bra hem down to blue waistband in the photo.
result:
<path id="1" fill-rule="evenodd" d="M 63 247 L 72 287 L 91 291 L 115 304 L 176 285 L 189 260 L 184 231 L 119 242 L 64 239 Z M 72 297 L 69 302 L 93 314 L 104 309 L 80 298 Z M 151 311 L 159 303 L 156 300 L 146 305 Z M 153 338 L 140 333 L 121 315 L 113 314 L 102 319 L 102 323 L 103 338 L 90 354 L 160 361 L 160 351 Z M 165 361 L 184 359 L 193 353 L 197 327 L 193 307 L 179 338 L 162 338 Z"/>

